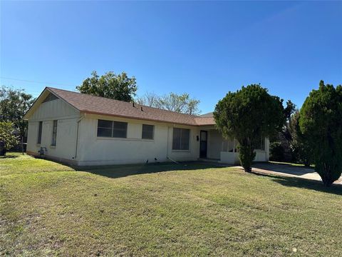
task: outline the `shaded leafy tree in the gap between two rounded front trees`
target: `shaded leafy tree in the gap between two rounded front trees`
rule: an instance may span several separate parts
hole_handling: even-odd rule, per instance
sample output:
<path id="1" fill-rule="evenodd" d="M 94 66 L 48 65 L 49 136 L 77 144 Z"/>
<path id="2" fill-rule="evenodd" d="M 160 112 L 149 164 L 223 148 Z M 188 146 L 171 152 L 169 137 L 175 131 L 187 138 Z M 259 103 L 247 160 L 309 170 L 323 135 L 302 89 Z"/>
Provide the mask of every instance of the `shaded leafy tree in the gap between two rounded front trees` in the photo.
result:
<path id="1" fill-rule="evenodd" d="M 299 111 L 296 111 L 289 123 L 289 133 L 291 134 L 291 151 L 294 161 L 303 163 L 309 167 L 312 163 L 311 146 L 307 143 L 308 135 L 301 131 L 299 126 Z"/>

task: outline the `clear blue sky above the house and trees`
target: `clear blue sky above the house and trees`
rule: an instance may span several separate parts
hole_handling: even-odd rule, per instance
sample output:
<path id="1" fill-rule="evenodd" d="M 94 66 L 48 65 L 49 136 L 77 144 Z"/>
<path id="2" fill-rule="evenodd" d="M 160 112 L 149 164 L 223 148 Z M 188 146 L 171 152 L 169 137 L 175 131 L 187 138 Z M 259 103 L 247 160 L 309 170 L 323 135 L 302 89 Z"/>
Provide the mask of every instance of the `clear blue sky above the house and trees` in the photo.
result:
<path id="1" fill-rule="evenodd" d="M 37 96 L 126 71 L 138 94 L 187 92 L 203 113 L 254 83 L 301 106 L 342 84 L 341 17 L 342 1 L 1 1 L 0 84 Z"/>

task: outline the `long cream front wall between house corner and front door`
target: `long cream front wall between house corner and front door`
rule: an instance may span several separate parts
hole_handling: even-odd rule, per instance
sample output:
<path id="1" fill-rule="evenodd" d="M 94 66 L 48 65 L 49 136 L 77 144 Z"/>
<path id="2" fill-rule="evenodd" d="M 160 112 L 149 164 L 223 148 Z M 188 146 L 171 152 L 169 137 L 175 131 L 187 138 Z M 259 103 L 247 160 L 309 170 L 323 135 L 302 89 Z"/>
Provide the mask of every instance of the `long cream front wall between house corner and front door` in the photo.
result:
<path id="1" fill-rule="evenodd" d="M 98 119 L 128 123 L 127 138 L 103 138 L 97 136 Z M 155 126 L 154 139 L 141 138 L 142 124 Z M 190 129 L 189 151 L 172 150 L 173 127 Z M 86 114 L 78 131 L 77 159 L 79 165 L 103 165 L 121 163 L 154 163 L 157 161 L 195 161 L 199 155 L 196 141 L 197 128 L 153 121 L 140 121 L 110 116 Z M 169 158 L 167 158 L 169 157 Z"/>

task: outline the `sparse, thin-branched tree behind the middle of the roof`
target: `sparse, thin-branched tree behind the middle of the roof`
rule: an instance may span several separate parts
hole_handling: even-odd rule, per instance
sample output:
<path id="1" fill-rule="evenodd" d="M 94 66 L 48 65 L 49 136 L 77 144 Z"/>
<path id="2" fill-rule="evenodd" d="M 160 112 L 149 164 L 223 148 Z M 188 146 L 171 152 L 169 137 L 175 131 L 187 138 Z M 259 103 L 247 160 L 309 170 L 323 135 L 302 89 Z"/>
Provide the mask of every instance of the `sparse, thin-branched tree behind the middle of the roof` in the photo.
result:
<path id="1" fill-rule="evenodd" d="M 197 115 L 200 113 L 199 100 L 190 98 L 189 94 L 170 93 L 164 96 L 157 96 L 154 93 L 147 93 L 137 100 L 138 104 L 147 105 L 168 111 L 176 111 L 182 114 Z"/>

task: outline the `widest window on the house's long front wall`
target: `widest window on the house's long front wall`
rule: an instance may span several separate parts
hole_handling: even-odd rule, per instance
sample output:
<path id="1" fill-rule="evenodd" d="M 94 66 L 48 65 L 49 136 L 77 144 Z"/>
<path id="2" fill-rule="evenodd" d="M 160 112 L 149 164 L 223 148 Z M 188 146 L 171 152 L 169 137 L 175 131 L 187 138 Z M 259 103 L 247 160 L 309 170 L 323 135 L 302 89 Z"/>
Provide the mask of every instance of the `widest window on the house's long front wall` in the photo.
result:
<path id="1" fill-rule="evenodd" d="M 127 122 L 98 120 L 98 136 L 127 138 Z"/>

